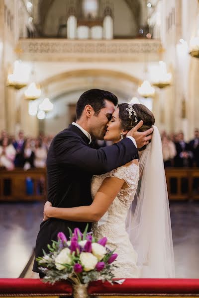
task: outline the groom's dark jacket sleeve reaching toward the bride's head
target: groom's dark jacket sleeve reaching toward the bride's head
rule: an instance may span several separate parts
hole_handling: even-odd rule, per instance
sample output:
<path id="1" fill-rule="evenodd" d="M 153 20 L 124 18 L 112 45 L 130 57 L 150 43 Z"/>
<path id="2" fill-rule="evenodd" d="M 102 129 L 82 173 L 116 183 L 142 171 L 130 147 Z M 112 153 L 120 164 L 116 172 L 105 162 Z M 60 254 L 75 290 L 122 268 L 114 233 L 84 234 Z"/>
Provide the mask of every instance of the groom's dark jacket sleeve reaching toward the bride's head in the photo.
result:
<path id="1" fill-rule="evenodd" d="M 75 166 L 92 175 L 109 172 L 132 159 L 139 158 L 138 151 L 130 139 L 112 146 L 92 149 L 76 135 L 59 136 L 54 142 L 55 158 L 61 166 Z"/>

